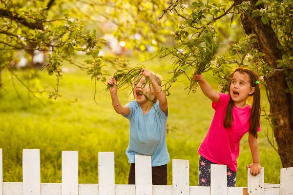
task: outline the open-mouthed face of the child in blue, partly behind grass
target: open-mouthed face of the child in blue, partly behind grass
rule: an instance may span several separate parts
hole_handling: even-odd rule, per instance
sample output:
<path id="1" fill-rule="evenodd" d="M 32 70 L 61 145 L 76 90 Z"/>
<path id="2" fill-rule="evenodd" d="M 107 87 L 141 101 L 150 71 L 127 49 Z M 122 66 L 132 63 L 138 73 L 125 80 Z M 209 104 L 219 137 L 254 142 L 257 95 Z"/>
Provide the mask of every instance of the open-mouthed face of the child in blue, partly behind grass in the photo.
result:
<path id="1" fill-rule="evenodd" d="M 138 103 L 147 102 L 148 99 L 144 96 L 144 94 L 149 97 L 149 92 L 151 92 L 151 97 L 153 97 L 152 88 L 149 89 L 148 84 L 146 83 L 146 78 L 142 77 L 139 81 L 137 78 L 133 81 L 133 91 L 134 91 L 134 98 Z"/>

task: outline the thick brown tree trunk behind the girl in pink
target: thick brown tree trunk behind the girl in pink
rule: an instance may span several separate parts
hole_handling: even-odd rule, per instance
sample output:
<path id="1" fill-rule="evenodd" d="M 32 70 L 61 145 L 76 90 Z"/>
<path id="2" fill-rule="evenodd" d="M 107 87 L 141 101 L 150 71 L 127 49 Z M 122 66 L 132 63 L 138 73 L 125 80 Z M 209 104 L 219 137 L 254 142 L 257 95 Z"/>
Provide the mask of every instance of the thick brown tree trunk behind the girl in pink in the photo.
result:
<path id="1" fill-rule="evenodd" d="M 236 5 L 239 5 L 243 0 L 234 1 Z M 256 1 L 251 0 L 253 9 L 255 9 Z M 259 4 L 257 7 L 261 8 L 261 6 L 263 5 Z M 282 59 L 282 50 L 277 47 L 281 44 L 271 27 L 271 23 L 265 25 L 259 17 L 251 19 L 250 15 L 245 15 L 242 24 L 247 35 L 251 33 L 257 35 L 258 44 L 253 47 L 263 52 L 268 64 L 276 69 L 276 60 Z M 265 78 L 265 81 L 269 92 L 270 113 L 273 117 L 273 133 L 278 144 L 279 156 L 285 168 L 293 167 L 293 96 L 285 92 L 288 87 L 284 78 L 284 72 L 274 71 L 272 77 Z"/>

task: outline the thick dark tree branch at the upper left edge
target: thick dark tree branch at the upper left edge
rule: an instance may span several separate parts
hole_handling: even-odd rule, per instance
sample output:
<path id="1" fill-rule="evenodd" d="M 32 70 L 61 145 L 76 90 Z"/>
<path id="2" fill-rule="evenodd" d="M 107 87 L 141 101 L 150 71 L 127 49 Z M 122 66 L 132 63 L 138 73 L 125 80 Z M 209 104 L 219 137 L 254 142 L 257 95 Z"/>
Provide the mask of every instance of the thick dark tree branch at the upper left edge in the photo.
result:
<path id="1" fill-rule="evenodd" d="M 27 26 L 28 28 L 43 30 L 42 23 L 27 22 L 24 18 L 19 17 L 19 15 L 17 13 L 12 13 L 12 12 L 5 10 L 5 9 L 0 9 L 0 18 L 9 18 L 11 20 L 15 20 L 15 21 L 21 23 L 24 26 Z"/>

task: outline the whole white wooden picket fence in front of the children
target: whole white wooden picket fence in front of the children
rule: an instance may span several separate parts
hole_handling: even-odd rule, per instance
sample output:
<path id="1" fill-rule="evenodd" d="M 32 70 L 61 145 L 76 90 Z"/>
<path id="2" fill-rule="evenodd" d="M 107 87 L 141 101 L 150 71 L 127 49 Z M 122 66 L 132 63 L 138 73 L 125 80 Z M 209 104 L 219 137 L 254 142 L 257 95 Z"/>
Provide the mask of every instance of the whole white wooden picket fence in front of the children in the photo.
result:
<path id="1" fill-rule="evenodd" d="M 0 195 L 293 195 L 293 168 L 281 169 L 280 184 L 264 183 L 248 170 L 248 187 L 227 187 L 226 165 L 211 165 L 211 186 L 189 186 L 189 161 L 172 161 L 171 186 L 151 183 L 151 157 L 135 156 L 136 185 L 115 185 L 114 152 L 99 152 L 99 184 L 78 183 L 78 152 L 62 152 L 62 183 L 41 183 L 40 150 L 24 149 L 23 182 L 3 182 L 0 149 Z"/>

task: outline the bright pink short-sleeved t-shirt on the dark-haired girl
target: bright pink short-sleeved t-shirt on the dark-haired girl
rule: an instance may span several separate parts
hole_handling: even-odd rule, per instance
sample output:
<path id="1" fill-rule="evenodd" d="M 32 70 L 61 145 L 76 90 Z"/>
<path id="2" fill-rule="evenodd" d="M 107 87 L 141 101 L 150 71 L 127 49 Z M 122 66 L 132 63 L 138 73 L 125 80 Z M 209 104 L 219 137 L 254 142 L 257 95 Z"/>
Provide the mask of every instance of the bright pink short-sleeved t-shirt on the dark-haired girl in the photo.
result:
<path id="1" fill-rule="evenodd" d="M 209 131 L 201 143 L 198 154 L 216 164 L 226 164 L 232 171 L 237 171 L 240 140 L 249 131 L 251 107 L 232 109 L 233 121 L 230 128 L 225 129 L 223 122 L 230 100 L 229 94 L 219 93 L 217 102 L 212 102 L 215 109 Z M 257 131 L 260 131 L 260 127 Z"/>

